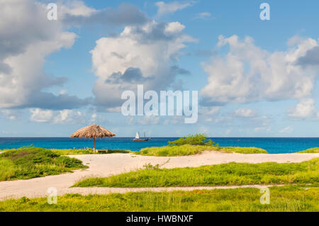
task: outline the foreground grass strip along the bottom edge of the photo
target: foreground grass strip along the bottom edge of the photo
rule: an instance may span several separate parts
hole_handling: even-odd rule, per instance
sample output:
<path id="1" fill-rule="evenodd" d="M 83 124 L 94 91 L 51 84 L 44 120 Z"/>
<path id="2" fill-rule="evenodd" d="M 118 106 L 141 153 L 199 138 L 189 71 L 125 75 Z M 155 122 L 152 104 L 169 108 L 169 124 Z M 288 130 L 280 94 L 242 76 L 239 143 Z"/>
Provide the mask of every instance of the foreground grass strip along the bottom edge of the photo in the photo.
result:
<path id="1" fill-rule="evenodd" d="M 319 211 L 319 188 L 271 187 L 270 204 L 259 202 L 257 188 L 196 191 L 112 193 L 108 195 L 67 194 L 56 205 L 47 198 L 20 198 L 0 202 L 0 211 Z"/>

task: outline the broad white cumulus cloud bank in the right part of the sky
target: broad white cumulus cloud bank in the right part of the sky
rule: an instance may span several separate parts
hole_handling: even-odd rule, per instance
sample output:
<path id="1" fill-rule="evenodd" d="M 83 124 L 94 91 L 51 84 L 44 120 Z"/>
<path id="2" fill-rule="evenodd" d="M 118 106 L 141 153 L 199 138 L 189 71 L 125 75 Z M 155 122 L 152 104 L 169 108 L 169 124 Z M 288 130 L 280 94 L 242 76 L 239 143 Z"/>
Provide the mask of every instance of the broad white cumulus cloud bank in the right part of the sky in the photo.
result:
<path id="1" fill-rule="evenodd" d="M 311 38 L 295 39 L 286 52 L 268 52 L 253 39 L 220 35 L 218 48 L 229 46 L 225 56 L 214 56 L 202 64 L 208 84 L 201 90 L 204 105 L 276 101 L 311 95 L 318 69 L 298 62 L 308 50 L 318 46 Z"/>

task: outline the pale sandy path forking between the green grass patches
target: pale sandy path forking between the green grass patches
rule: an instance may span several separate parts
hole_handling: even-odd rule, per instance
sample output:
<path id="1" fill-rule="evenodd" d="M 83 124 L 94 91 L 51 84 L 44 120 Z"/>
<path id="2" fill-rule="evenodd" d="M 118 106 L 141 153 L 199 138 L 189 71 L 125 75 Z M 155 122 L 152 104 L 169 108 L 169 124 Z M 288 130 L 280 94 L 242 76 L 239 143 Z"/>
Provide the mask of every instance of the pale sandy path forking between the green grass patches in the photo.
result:
<path id="1" fill-rule="evenodd" d="M 110 176 L 112 174 L 121 174 L 123 172 L 132 171 L 142 168 L 144 164 L 164 164 L 165 168 L 175 167 L 194 167 L 209 164 L 222 164 L 228 162 L 303 162 L 315 157 L 319 157 L 319 153 L 315 154 L 229 154 L 219 152 L 203 152 L 186 157 L 147 157 L 135 154 L 85 154 L 74 155 L 81 159 L 89 169 L 77 170 L 74 173 L 60 174 L 55 176 L 45 176 L 29 180 L 18 181 L 2 181 L 0 182 L 0 200 L 6 198 L 28 198 L 47 196 L 47 188 L 57 188 L 57 194 L 65 193 L 110 193 L 110 192 L 128 192 L 128 191 L 172 191 L 187 190 L 193 188 L 69 188 L 76 181 L 86 176 Z M 220 188 L 220 187 L 197 187 L 198 188 Z M 231 187 L 228 187 L 231 188 Z M 196 189 L 196 187 L 195 187 Z"/>

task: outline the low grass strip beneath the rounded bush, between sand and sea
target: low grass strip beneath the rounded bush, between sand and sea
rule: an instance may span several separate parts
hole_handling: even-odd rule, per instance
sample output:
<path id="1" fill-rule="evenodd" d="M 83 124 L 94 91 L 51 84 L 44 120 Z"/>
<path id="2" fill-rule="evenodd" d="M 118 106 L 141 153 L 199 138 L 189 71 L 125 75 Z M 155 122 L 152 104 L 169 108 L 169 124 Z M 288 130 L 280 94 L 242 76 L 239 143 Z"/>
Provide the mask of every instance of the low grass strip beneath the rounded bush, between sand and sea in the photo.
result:
<path id="1" fill-rule="evenodd" d="M 228 153 L 242 153 L 242 154 L 268 154 L 264 149 L 257 147 L 216 147 L 216 146 L 204 146 L 204 145 L 181 145 L 181 146 L 164 146 L 164 147 L 147 147 L 141 149 L 135 154 L 147 155 L 147 156 L 162 156 L 173 157 L 198 154 L 203 151 L 218 151 Z"/>

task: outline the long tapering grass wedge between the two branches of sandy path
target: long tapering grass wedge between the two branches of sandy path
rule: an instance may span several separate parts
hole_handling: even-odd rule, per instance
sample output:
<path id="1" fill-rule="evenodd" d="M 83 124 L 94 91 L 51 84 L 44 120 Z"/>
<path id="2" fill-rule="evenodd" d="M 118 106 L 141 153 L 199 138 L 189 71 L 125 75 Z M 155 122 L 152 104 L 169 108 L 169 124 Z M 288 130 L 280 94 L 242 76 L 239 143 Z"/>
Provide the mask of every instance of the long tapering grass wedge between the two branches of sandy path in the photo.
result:
<path id="1" fill-rule="evenodd" d="M 319 158 L 301 163 L 235 163 L 174 169 L 140 169 L 106 178 L 88 178 L 77 187 L 230 186 L 245 184 L 318 183 Z"/>

